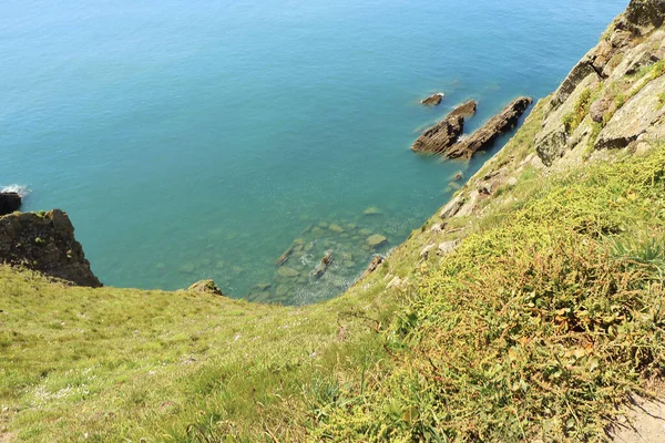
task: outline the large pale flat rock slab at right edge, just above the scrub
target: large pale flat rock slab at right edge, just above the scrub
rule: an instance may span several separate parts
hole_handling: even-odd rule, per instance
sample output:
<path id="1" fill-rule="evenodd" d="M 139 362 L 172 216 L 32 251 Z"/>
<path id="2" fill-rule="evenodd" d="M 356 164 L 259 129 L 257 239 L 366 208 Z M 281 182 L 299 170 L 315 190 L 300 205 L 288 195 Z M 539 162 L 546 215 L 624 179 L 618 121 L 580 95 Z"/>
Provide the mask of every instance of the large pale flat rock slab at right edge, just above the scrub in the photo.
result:
<path id="1" fill-rule="evenodd" d="M 642 89 L 620 109 L 601 131 L 596 150 L 621 148 L 636 141 L 651 126 L 665 116 L 659 106 L 659 94 L 665 91 L 665 76 L 661 76 Z"/>

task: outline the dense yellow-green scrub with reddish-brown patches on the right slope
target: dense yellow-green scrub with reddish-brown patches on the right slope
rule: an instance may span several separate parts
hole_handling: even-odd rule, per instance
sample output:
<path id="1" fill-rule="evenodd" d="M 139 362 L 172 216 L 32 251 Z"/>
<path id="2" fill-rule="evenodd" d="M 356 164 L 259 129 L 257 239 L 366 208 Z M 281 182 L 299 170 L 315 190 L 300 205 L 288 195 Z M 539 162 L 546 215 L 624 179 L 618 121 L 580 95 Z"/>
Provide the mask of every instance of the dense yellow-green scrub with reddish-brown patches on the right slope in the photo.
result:
<path id="1" fill-rule="evenodd" d="M 550 179 L 502 219 L 421 268 L 383 333 L 396 367 L 318 439 L 597 441 L 663 375 L 664 146 Z"/>

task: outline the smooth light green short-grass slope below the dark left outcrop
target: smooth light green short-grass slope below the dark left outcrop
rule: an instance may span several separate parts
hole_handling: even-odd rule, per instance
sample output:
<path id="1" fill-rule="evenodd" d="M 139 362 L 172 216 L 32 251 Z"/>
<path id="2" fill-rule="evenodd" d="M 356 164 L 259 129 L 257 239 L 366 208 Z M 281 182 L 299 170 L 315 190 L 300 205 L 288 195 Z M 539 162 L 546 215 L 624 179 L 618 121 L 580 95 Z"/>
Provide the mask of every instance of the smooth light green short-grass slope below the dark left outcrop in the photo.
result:
<path id="1" fill-rule="evenodd" d="M 39 442 L 299 441 L 321 383 L 383 364 L 367 319 L 388 310 L 360 288 L 298 309 L 68 287 L 7 267 L 0 309 L 0 435 L 6 422 Z"/>

